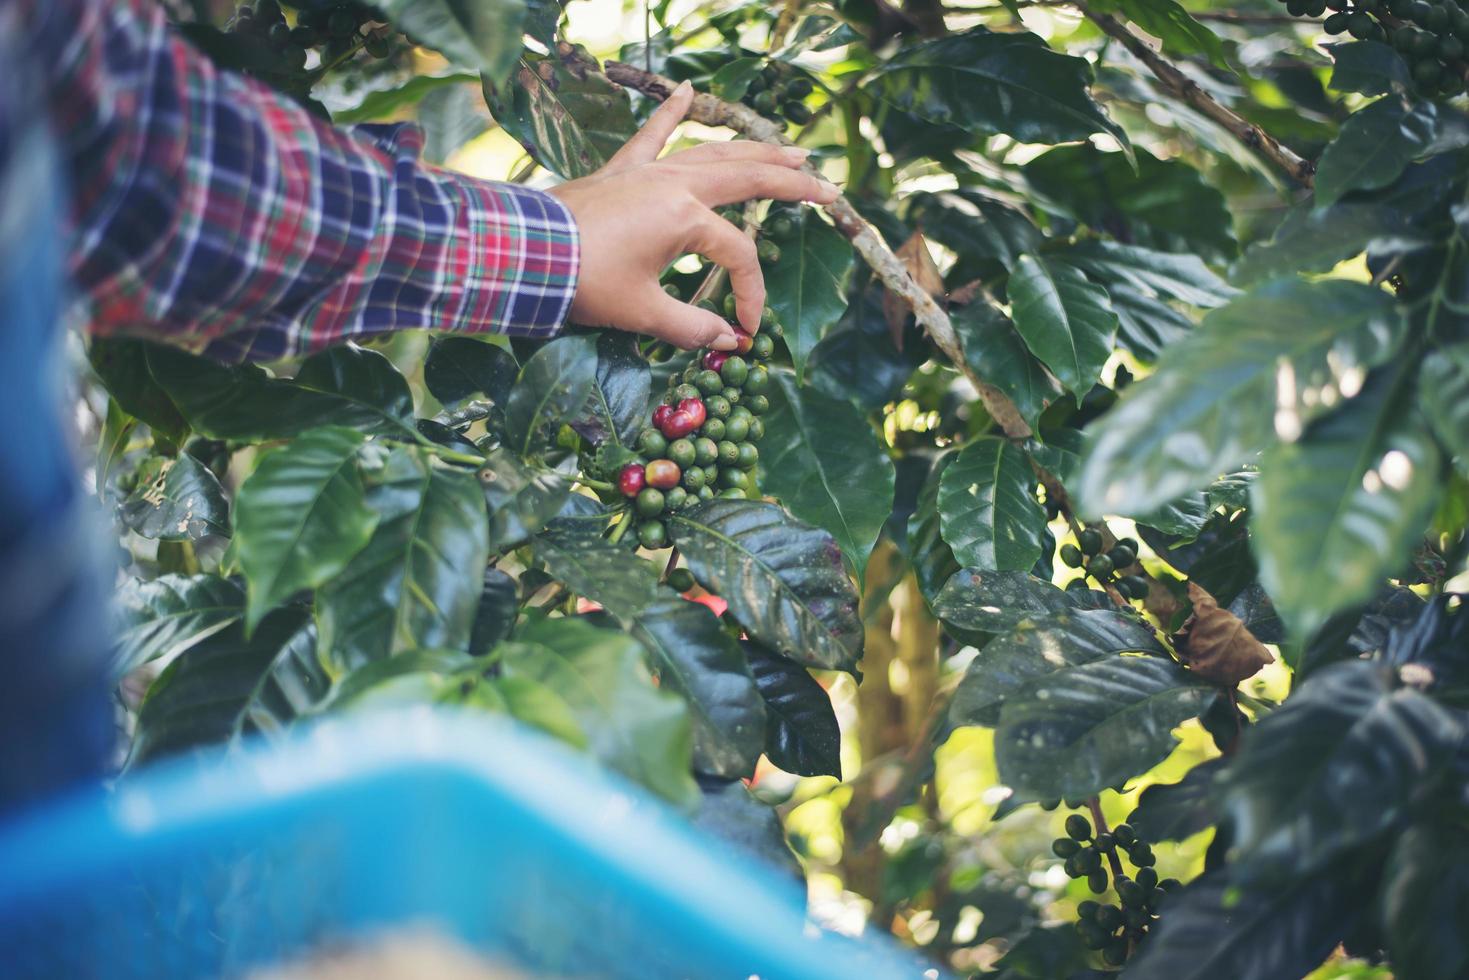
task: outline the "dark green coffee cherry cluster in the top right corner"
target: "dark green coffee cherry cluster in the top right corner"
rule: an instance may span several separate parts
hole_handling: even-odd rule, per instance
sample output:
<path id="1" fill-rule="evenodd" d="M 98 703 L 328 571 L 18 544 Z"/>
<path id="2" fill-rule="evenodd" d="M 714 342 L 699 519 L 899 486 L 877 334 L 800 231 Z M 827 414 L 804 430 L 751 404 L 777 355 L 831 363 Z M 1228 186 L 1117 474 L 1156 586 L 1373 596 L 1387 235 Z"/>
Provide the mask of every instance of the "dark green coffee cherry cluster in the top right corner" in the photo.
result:
<path id="1" fill-rule="evenodd" d="M 1425 96 L 1465 91 L 1469 9 L 1457 0 L 1284 0 L 1291 16 L 1319 18 L 1327 34 L 1388 41 L 1401 51 Z"/>

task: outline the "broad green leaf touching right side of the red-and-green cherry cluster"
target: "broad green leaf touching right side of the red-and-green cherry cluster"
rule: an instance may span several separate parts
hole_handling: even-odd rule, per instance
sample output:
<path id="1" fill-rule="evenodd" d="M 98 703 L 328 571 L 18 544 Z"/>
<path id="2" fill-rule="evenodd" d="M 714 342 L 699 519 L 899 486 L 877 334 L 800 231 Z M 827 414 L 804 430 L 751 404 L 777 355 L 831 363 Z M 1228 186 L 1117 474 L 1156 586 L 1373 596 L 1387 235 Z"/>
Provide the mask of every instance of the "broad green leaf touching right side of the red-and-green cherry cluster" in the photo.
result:
<path id="1" fill-rule="evenodd" d="M 761 486 L 836 538 L 861 579 L 893 511 L 893 461 L 851 403 L 798 388 L 776 369 L 761 450 Z"/>

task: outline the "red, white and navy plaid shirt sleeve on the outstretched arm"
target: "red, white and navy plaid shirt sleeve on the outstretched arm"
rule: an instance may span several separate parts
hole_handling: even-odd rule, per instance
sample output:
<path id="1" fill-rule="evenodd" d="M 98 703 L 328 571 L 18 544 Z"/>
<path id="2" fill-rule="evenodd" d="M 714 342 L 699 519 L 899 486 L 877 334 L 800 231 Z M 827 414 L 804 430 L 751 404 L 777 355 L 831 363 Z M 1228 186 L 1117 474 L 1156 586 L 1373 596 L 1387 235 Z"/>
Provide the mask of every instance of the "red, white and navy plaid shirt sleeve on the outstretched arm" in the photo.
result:
<path id="1" fill-rule="evenodd" d="M 566 319 L 579 248 L 560 201 L 426 166 L 408 125 L 335 129 L 216 69 L 151 0 L 0 0 L 0 188 L 41 107 L 95 334 L 241 360 Z"/>

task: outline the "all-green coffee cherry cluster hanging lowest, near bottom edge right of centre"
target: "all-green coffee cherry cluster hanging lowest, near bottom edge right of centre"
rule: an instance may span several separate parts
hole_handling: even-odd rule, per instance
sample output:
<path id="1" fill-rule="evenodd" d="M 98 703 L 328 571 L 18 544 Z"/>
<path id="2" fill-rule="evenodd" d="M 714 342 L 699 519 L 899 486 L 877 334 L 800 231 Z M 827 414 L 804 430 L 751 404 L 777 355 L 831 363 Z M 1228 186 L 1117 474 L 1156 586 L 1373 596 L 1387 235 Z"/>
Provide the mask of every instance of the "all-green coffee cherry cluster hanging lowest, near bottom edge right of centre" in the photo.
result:
<path id="1" fill-rule="evenodd" d="M 1056 857 L 1065 860 L 1066 874 L 1084 877 L 1094 895 L 1106 892 L 1109 884 L 1115 887 L 1116 905 L 1087 899 L 1077 907 L 1077 932 L 1087 949 L 1102 954 L 1103 962 L 1121 967 L 1147 937 L 1163 896 L 1183 887 L 1183 883 L 1178 879 L 1158 880 L 1153 849 L 1128 824 L 1097 835 L 1091 830 L 1090 820 L 1071 814 L 1066 817 L 1066 836 L 1050 846 Z M 1136 868 L 1133 877 L 1115 873 L 1112 860 L 1121 867 L 1124 855 Z"/>

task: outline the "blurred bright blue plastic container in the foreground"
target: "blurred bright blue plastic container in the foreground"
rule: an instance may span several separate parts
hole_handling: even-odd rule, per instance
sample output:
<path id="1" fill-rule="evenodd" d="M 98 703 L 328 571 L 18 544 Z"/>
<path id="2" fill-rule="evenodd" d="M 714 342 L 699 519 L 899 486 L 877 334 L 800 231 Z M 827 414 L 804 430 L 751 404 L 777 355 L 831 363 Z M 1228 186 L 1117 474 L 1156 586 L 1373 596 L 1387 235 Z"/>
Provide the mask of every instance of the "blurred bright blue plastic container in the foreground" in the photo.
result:
<path id="1" fill-rule="evenodd" d="M 494 717 L 328 721 L 0 827 L 6 979 L 237 977 L 422 926 L 536 976 L 937 976 Z"/>

